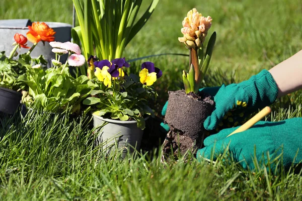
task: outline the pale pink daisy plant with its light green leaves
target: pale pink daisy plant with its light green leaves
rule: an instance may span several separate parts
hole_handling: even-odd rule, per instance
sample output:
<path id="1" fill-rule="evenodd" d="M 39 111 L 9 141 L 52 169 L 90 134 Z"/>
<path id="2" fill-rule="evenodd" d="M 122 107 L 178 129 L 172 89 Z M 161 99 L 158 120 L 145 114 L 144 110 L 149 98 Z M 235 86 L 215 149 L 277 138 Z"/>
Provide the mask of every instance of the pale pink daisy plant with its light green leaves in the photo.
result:
<path id="1" fill-rule="evenodd" d="M 82 102 L 95 87 L 87 76 L 73 78 L 68 66 L 79 67 L 84 65 L 85 57 L 80 47 L 71 42 L 50 42 L 55 59 L 52 59 L 53 68 L 32 67 L 25 64 L 25 74 L 19 76 L 18 81 L 26 85 L 23 91 L 22 102 L 29 108 L 43 112 L 61 113 L 67 108 L 70 114 L 82 112 Z M 64 64 L 59 62 L 60 56 L 68 54 Z"/>

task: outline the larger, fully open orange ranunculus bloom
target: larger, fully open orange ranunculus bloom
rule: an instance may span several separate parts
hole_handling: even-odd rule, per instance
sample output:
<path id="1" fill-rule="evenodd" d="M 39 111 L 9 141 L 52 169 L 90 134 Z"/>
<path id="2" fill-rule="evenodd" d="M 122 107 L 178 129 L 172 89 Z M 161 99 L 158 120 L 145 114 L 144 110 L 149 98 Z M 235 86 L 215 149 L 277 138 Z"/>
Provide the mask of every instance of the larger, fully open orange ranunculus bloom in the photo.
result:
<path id="1" fill-rule="evenodd" d="M 44 22 L 33 23 L 32 26 L 28 26 L 29 32 L 27 32 L 27 39 L 32 43 L 38 43 L 40 41 L 51 42 L 54 41 L 55 32 Z"/>

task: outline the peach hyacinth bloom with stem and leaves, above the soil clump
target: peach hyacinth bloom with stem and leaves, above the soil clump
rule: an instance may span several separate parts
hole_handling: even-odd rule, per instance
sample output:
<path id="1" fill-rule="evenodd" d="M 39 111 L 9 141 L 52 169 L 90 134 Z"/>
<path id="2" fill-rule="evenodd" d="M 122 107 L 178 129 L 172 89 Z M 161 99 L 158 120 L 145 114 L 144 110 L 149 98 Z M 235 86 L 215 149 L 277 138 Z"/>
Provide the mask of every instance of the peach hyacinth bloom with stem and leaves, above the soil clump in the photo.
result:
<path id="1" fill-rule="evenodd" d="M 216 41 L 216 32 L 211 35 L 205 53 L 203 43 L 212 25 L 211 22 L 210 16 L 203 17 L 195 8 L 188 12 L 187 17 L 182 22 L 181 32 L 184 36 L 178 40 L 184 43 L 190 51 L 190 69 L 188 73 L 183 71 L 182 75 L 186 93 L 198 93 L 200 83 L 209 67 Z"/>

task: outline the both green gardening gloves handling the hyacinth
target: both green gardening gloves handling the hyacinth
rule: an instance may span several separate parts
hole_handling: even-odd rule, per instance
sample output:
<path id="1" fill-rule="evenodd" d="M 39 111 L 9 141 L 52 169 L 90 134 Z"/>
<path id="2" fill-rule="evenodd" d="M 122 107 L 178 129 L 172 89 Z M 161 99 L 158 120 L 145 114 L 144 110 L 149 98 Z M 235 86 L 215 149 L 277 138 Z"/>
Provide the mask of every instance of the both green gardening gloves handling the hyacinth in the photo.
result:
<path id="1" fill-rule="evenodd" d="M 215 108 L 204 122 L 208 131 L 219 131 L 204 140 L 204 148 L 197 151 L 197 159 L 215 160 L 229 151 L 229 156 L 243 168 L 272 164 L 282 158 L 288 169 L 302 160 L 302 118 L 281 122 L 258 122 L 252 128 L 226 137 L 245 123 L 252 113 L 272 104 L 278 94 L 278 87 L 267 70 L 238 84 L 200 89 L 214 97 Z M 168 102 L 163 108 L 166 114 Z M 162 123 L 162 129 L 169 126 Z M 238 127 L 236 127 L 238 126 Z M 233 127 L 233 128 L 231 128 Z M 226 128 L 226 129 L 223 129 Z M 222 129 L 222 130 L 221 130 Z"/>

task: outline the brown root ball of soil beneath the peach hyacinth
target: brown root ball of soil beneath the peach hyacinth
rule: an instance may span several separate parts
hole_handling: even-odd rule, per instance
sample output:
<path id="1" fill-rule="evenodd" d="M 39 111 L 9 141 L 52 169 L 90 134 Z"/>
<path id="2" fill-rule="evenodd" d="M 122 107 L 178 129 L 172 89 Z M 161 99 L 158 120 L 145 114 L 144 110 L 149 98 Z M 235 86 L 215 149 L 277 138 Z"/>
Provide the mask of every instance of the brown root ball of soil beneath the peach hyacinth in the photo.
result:
<path id="1" fill-rule="evenodd" d="M 203 122 L 211 114 L 214 101 L 202 91 L 186 94 L 185 90 L 178 90 L 169 91 L 168 102 L 165 123 L 170 132 L 163 144 L 163 156 L 169 156 L 172 150 L 175 158 L 188 150 L 195 154 L 202 147 L 204 136 L 208 135 Z"/>

